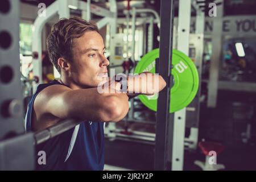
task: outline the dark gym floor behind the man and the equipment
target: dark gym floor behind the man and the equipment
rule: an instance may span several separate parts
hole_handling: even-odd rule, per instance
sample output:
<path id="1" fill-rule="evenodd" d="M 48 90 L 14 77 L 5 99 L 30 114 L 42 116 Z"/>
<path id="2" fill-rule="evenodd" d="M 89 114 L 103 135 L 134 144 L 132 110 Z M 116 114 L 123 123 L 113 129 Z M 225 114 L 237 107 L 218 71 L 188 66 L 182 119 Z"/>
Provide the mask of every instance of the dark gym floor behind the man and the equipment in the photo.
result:
<path id="1" fill-rule="evenodd" d="M 225 145 L 225 150 L 217 156 L 217 163 L 224 164 L 224 170 L 256 169 L 255 138 L 247 143 L 242 142 L 241 133 L 246 130 L 247 119 L 238 117 L 243 113 L 243 107 L 232 107 L 234 103 L 254 99 L 255 95 L 250 93 L 220 91 L 216 109 L 209 109 L 205 103 L 201 104 L 199 138 Z M 151 144 L 105 139 L 105 146 L 106 164 L 133 170 L 154 169 L 154 146 Z M 199 148 L 193 152 L 185 151 L 184 170 L 201 171 L 193 164 L 195 160 L 205 161 Z"/>

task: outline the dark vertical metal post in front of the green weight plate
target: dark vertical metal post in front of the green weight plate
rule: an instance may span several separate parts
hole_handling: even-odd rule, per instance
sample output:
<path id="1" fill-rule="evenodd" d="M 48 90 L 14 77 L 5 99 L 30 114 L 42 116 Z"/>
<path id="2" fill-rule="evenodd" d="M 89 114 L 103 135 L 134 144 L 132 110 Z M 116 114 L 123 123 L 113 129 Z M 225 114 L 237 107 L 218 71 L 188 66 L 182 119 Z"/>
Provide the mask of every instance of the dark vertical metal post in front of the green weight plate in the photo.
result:
<path id="1" fill-rule="evenodd" d="M 159 53 L 159 75 L 168 83 L 166 88 L 159 93 L 158 111 L 156 112 L 156 145 L 155 145 L 155 170 L 167 169 L 167 127 L 170 103 L 169 81 L 172 64 L 172 31 L 174 20 L 174 1 L 161 0 L 160 6 L 160 53 Z M 162 61 L 161 61 L 162 60 Z M 174 123 L 171 122 L 170 125 Z M 172 133 L 170 133 L 172 135 Z"/>

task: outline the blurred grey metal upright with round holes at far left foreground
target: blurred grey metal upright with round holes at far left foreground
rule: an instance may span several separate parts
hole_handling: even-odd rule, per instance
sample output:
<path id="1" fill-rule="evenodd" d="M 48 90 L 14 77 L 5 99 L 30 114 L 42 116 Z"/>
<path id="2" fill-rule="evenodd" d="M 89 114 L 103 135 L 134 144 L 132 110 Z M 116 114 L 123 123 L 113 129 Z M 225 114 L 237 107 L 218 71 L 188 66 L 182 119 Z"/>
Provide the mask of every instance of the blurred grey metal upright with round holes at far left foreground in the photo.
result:
<path id="1" fill-rule="evenodd" d="M 31 170 L 35 162 L 33 135 L 22 135 L 19 4 L 19 1 L 3 1 L 0 10 L 0 170 Z"/>

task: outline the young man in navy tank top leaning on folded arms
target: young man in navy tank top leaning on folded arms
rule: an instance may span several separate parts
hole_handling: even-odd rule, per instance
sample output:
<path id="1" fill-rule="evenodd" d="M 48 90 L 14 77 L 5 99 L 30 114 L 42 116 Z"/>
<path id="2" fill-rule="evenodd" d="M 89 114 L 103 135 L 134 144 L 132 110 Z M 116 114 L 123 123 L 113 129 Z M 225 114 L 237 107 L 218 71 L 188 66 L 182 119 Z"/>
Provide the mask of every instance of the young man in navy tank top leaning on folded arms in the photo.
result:
<path id="1" fill-rule="evenodd" d="M 46 152 L 46 164 L 37 164 L 37 169 L 102 170 L 104 122 L 125 117 L 129 95 L 158 93 L 166 82 L 160 76 L 146 82 L 151 73 L 134 76 L 140 80 L 127 78 L 127 86 L 109 81 L 102 37 L 96 24 L 81 18 L 60 19 L 47 38 L 47 48 L 61 78 L 38 86 L 28 105 L 26 130 L 43 130 L 65 118 L 84 122 L 40 144 L 37 150 Z M 151 92 L 143 89 L 147 86 Z"/>

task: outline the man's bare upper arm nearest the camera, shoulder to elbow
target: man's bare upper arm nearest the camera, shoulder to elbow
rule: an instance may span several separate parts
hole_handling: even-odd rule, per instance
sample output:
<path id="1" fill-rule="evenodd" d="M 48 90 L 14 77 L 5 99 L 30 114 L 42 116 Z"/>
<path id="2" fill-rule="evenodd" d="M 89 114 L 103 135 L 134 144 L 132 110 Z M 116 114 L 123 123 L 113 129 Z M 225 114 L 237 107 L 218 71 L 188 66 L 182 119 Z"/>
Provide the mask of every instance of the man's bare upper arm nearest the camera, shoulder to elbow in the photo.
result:
<path id="1" fill-rule="evenodd" d="M 117 122 L 125 117 L 129 104 L 123 93 L 100 94 L 97 88 L 72 90 L 63 85 L 52 85 L 38 94 L 34 110 L 36 115 L 49 113 L 61 119 Z"/>

